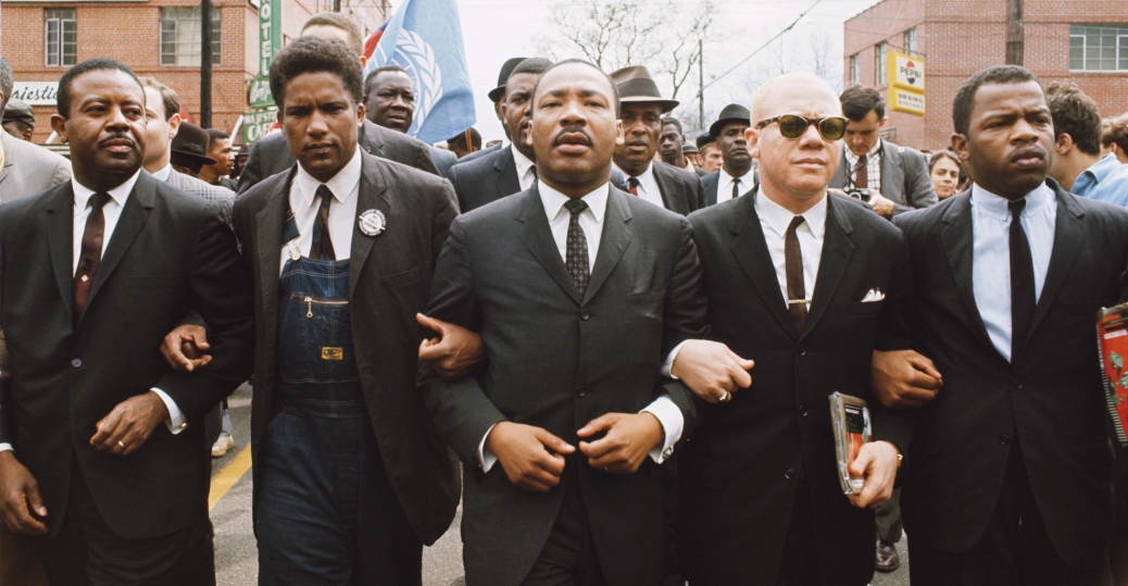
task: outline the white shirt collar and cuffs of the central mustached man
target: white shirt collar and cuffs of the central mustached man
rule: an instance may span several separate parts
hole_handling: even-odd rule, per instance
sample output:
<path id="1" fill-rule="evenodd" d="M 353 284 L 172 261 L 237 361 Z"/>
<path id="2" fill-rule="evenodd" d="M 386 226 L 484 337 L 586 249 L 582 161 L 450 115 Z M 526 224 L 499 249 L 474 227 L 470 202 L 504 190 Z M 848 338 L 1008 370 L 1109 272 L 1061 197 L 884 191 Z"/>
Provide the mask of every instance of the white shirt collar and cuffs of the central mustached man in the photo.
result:
<path id="1" fill-rule="evenodd" d="M 579 221 L 580 228 L 583 230 L 583 236 L 588 240 L 589 270 L 594 269 L 596 256 L 599 254 L 599 239 L 603 233 L 603 219 L 607 217 L 607 199 L 610 195 L 610 184 L 605 183 L 582 198 L 588 203 L 588 209 L 580 213 Z M 567 211 L 564 204 L 570 198 L 544 183 L 540 184 L 538 191 L 540 192 L 540 202 L 545 207 L 545 213 L 548 216 L 548 227 L 552 229 L 553 239 L 556 240 L 556 250 L 559 251 L 561 259 L 566 260 L 567 227 L 572 221 L 572 212 Z M 591 251 L 597 251 L 597 253 L 591 254 Z M 681 414 L 678 405 L 673 403 L 673 400 L 670 399 L 670 395 L 667 394 L 655 399 L 645 409 L 640 411 L 640 413 L 642 412 L 653 414 L 662 425 L 666 441 L 661 446 L 650 451 L 651 460 L 661 464 L 673 454 L 673 445 L 681 439 L 685 417 Z M 497 456 L 486 449 L 486 438 L 490 437 L 491 431 L 493 431 L 493 426 L 486 430 L 485 436 L 482 437 L 482 441 L 478 443 L 478 464 L 485 472 L 490 472 L 490 469 L 497 463 Z"/>

